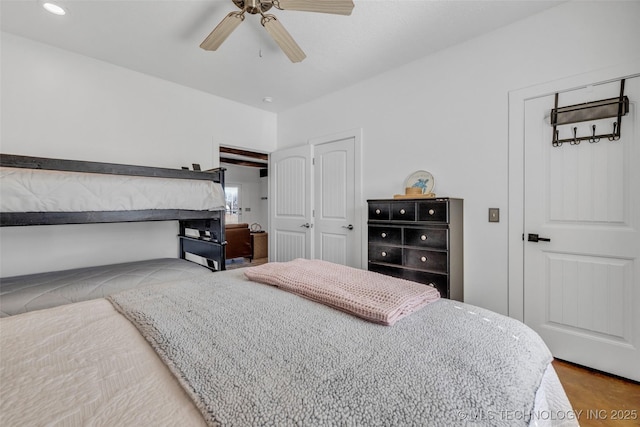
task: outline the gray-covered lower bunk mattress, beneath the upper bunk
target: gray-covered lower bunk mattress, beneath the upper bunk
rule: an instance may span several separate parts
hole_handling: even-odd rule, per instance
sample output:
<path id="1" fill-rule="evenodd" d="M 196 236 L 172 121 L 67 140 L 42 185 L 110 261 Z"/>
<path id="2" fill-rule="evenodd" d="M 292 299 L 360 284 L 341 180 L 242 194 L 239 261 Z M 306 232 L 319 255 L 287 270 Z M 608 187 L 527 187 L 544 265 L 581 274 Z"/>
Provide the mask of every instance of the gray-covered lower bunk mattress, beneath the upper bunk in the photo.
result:
<path id="1" fill-rule="evenodd" d="M 211 274 L 176 258 L 78 268 L 0 279 L 0 317 L 103 298 L 126 289 Z"/>

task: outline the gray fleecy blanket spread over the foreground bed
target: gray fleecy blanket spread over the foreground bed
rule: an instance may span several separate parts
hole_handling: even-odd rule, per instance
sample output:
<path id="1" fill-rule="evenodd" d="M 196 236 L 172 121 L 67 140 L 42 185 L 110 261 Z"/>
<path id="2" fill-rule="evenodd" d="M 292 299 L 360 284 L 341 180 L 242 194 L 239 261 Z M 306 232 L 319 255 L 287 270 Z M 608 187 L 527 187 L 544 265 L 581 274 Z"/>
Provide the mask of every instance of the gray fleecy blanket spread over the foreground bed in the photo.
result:
<path id="1" fill-rule="evenodd" d="M 109 299 L 210 425 L 525 425 L 551 361 L 529 328 L 474 306 L 382 326 L 242 269 Z"/>

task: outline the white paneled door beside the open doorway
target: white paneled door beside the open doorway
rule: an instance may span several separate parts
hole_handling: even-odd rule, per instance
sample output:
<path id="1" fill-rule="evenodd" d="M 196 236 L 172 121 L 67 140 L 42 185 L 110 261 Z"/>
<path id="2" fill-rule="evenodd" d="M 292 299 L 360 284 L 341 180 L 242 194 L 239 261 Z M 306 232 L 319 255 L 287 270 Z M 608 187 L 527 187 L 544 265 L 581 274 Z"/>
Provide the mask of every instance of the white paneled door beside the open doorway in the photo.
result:
<path id="1" fill-rule="evenodd" d="M 311 150 L 303 145 L 276 151 L 269 158 L 270 261 L 312 256 Z"/>

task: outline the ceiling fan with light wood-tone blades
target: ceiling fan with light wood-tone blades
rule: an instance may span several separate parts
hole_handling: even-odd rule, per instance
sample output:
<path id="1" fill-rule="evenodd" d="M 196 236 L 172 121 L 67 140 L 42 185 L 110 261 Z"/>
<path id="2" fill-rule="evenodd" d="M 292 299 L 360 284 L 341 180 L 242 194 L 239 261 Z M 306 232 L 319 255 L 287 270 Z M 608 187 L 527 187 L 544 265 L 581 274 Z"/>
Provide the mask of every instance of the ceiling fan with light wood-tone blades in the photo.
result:
<path id="1" fill-rule="evenodd" d="M 280 49 L 289 57 L 291 62 L 300 62 L 307 57 L 293 37 L 285 30 L 280 21 L 271 14 L 266 14 L 275 7 L 280 10 L 300 10 L 304 12 L 333 13 L 336 15 L 351 15 L 352 0 L 231 0 L 241 10 L 229 13 L 211 34 L 207 36 L 200 47 L 204 50 L 216 50 L 229 37 L 242 21 L 244 14 L 260 14 L 260 23 L 278 43 Z"/>

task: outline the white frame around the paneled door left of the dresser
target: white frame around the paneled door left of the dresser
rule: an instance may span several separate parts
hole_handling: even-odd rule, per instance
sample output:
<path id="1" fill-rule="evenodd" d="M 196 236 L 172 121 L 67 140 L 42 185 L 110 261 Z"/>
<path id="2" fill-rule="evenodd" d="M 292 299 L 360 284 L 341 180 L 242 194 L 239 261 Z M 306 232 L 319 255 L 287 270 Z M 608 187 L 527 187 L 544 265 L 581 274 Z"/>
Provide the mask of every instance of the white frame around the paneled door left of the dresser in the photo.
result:
<path id="1" fill-rule="evenodd" d="M 367 265 L 367 247 L 366 235 L 363 233 L 363 224 L 366 224 L 366 210 L 362 208 L 364 201 L 362 200 L 362 128 L 349 129 L 342 132 L 337 132 L 331 135 L 325 135 L 315 138 L 310 138 L 307 143 L 312 146 L 320 144 L 328 144 L 343 139 L 353 138 L 354 140 L 354 233 L 356 242 L 360 242 L 360 268 L 365 268 Z M 315 152 L 315 150 L 314 150 Z M 312 154 L 313 155 L 313 154 Z M 313 184 L 312 184 L 313 185 Z M 312 200 L 311 209 L 315 209 Z"/>

